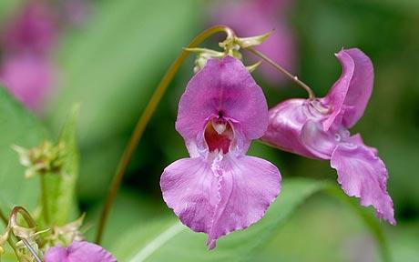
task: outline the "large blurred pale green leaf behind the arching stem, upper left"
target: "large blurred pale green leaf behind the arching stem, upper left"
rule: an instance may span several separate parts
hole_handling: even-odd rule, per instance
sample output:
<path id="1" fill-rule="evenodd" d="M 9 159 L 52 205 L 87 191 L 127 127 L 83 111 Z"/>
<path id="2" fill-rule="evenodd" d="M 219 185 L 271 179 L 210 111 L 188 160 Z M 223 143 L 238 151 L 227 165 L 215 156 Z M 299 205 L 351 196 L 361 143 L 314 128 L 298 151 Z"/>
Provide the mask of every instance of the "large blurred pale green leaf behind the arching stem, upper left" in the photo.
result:
<path id="1" fill-rule="evenodd" d="M 152 3 L 152 4 L 151 4 Z M 99 143 L 137 120 L 158 77 L 187 45 L 199 1 L 120 0 L 95 5 L 62 48 L 62 83 L 50 115 L 57 126 L 81 102 L 81 144 Z"/>

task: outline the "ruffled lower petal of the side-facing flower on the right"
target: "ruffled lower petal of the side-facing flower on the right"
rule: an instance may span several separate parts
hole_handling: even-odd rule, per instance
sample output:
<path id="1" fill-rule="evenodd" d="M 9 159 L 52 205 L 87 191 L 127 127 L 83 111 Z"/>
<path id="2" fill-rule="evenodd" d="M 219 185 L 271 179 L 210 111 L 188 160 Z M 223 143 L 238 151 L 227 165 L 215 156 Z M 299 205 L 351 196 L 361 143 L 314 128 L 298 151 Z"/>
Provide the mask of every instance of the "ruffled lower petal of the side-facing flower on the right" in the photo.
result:
<path id="1" fill-rule="evenodd" d="M 373 206 L 377 217 L 395 225 L 393 200 L 386 189 L 387 169 L 371 148 L 342 143 L 332 154 L 331 166 L 348 196 L 361 198 L 361 205 Z"/>

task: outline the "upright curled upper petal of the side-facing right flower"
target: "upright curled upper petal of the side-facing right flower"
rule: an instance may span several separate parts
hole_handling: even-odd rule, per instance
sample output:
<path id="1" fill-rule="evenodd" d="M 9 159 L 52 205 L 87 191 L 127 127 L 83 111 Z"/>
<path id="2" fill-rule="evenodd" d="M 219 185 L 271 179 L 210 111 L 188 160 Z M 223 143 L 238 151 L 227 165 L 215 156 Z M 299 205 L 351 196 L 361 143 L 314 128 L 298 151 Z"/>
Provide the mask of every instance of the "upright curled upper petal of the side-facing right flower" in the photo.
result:
<path id="1" fill-rule="evenodd" d="M 328 130 L 342 114 L 342 126 L 352 127 L 363 116 L 373 92 L 373 64 L 358 48 L 343 49 L 336 54 L 342 65 L 342 75 L 332 86 L 324 103 L 331 106 L 332 114 L 323 122 Z M 341 123 L 337 123 L 341 124 Z"/>

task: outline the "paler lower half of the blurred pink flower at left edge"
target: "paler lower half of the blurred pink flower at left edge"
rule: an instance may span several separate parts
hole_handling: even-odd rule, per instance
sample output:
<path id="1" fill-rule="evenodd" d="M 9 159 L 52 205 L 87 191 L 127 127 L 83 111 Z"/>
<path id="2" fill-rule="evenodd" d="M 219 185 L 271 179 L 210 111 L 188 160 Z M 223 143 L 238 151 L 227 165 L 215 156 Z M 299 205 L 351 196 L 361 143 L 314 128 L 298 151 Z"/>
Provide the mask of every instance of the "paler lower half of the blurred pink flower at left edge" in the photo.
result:
<path id="1" fill-rule="evenodd" d="M 27 107 L 39 111 L 49 94 L 53 67 L 37 55 L 10 55 L 0 65 L 0 81 Z"/>

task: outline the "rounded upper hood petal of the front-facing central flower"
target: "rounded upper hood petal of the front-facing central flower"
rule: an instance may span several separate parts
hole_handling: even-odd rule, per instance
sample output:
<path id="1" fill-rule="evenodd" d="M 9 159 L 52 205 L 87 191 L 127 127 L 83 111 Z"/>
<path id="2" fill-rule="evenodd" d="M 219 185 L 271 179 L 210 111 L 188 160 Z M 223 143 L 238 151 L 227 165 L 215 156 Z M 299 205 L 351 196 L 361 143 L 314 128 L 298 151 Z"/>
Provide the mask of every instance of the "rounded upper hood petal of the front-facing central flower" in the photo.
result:
<path id="1" fill-rule="evenodd" d="M 250 140 L 261 137 L 268 126 L 261 87 L 231 56 L 210 59 L 190 79 L 180 98 L 176 130 L 188 143 L 201 136 L 210 118 L 218 116 L 239 123 L 241 133 Z"/>

